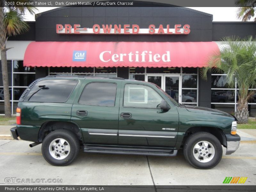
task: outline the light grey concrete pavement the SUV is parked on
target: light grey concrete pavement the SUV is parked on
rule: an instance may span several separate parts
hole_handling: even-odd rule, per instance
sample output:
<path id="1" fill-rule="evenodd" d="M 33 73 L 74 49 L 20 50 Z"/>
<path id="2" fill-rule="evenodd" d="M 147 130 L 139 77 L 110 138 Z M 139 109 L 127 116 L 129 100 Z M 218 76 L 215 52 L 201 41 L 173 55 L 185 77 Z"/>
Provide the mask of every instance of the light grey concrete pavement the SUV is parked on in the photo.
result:
<path id="1" fill-rule="evenodd" d="M 243 185 L 256 184 L 256 143 L 241 143 L 238 150 L 223 157 L 210 170 L 190 166 L 181 151 L 176 157 L 107 155 L 80 152 L 65 167 L 48 164 L 41 153 L 41 144 L 0 140 L 0 184 L 5 178 L 62 179 L 62 185 L 224 185 L 226 177 L 248 177 Z M 45 181 L 44 181 L 45 182 Z M 34 184 L 56 184 L 56 183 Z M 19 183 L 16 183 L 19 184 Z M 32 184 L 32 183 L 20 183 Z M 60 184 L 60 183 L 59 183 Z"/>

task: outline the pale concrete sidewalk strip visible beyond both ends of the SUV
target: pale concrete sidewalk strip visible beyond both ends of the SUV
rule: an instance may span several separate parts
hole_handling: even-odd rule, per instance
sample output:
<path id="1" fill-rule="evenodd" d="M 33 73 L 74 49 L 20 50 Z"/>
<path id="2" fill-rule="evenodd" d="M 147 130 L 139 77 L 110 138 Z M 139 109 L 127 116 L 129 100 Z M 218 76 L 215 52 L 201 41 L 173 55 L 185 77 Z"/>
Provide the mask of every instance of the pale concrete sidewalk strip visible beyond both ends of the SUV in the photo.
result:
<path id="1" fill-rule="evenodd" d="M 12 127 L 15 125 L 0 125 L 0 139 L 12 139 L 10 132 Z M 237 134 L 241 137 L 241 143 L 256 143 L 256 129 L 239 129 Z"/>

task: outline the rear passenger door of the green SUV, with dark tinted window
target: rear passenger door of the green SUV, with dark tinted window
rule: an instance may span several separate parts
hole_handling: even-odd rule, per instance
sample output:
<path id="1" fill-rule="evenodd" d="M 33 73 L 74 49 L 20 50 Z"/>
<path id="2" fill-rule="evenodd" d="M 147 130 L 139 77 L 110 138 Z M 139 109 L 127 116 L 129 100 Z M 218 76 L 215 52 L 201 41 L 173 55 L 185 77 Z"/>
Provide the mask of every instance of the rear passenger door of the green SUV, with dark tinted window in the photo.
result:
<path id="1" fill-rule="evenodd" d="M 115 98 L 120 96 L 121 81 L 113 81 L 112 85 L 116 88 L 112 85 L 108 86 L 111 82 L 96 81 L 88 80 L 83 86 L 84 91 L 82 89 L 80 94 L 77 94 L 76 102 L 72 107 L 71 121 L 81 127 L 84 143 L 116 145 L 119 99 Z"/>

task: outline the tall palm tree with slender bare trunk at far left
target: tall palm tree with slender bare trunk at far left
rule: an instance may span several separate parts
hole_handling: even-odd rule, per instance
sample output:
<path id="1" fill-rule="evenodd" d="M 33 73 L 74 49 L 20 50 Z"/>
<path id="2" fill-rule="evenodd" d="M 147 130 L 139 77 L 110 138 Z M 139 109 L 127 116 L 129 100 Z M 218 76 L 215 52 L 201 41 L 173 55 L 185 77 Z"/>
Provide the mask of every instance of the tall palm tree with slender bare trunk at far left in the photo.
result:
<path id="1" fill-rule="evenodd" d="M 6 51 L 11 48 L 6 48 L 6 42 L 9 36 L 18 35 L 28 30 L 28 24 L 23 20 L 25 12 L 30 14 L 35 13 L 35 7 L 16 7 L 17 0 L 12 1 L 14 5 L 4 7 L 5 0 L 0 2 L 0 50 L 1 50 L 1 64 L 3 74 L 4 86 L 4 114 L 5 117 L 11 117 L 11 104 L 8 83 L 7 71 L 7 56 Z M 31 0 L 22 0 L 22 2 L 31 2 Z"/>

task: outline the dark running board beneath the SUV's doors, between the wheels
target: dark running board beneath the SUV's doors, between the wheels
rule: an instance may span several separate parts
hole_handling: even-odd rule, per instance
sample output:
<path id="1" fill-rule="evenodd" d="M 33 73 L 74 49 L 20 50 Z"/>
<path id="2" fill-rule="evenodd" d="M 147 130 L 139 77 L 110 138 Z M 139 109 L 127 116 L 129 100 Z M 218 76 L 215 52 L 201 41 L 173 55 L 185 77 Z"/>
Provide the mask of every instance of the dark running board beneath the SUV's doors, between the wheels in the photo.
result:
<path id="1" fill-rule="evenodd" d="M 84 145 L 84 152 L 87 153 L 108 153 L 108 154 L 129 154 L 129 155 L 152 155 L 152 156 L 176 156 L 176 149 L 157 148 L 126 148 Z"/>

